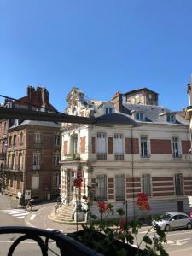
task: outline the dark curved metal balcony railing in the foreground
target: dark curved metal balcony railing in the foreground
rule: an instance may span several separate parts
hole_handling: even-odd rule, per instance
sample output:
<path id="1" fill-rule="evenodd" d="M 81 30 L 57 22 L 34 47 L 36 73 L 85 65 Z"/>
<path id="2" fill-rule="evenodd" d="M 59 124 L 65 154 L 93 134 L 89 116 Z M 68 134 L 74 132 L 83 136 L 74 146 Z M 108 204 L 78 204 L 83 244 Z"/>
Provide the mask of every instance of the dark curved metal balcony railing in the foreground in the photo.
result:
<path id="1" fill-rule="evenodd" d="M 20 236 L 13 241 L 9 247 L 8 256 L 14 255 L 15 248 L 22 241 L 32 239 L 38 243 L 43 256 L 48 256 L 48 252 L 53 252 L 53 248 L 49 248 L 49 240 L 55 241 L 56 246 L 60 250 L 61 256 L 99 256 L 101 254 L 96 253 L 90 247 L 84 246 L 79 241 L 74 240 L 72 237 L 63 235 L 58 230 L 41 230 L 32 227 L 19 227 L 19 226 L 8 226 L 0 227 L 0 234 L 19 234 Z M 58 255 L 57 253 L 54 253 Z"/>

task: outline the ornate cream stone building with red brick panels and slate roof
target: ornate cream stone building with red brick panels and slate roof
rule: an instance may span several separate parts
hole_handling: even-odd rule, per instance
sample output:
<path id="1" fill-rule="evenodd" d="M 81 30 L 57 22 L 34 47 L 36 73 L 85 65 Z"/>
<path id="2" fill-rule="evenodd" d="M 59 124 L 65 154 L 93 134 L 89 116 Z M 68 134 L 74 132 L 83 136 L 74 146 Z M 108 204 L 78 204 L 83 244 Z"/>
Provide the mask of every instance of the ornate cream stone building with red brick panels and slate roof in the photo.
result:
<path id="1" fill-rule="evenodd" d="M 95 116 L 96 125 L 63 124 L 61 196 L 73 201 L 73 180 L 81 176 L 81 194 L 92 188 L 97 199 L 139 214 L 138 192 L 148 195 L 151 213 L 191 212 L 192 160 L 189 121 L 158 105 L 147 88 L 119 91 L 108 102 L 88 100 L 73 88 L 67 113 Z M 84 202 L 84 200 L 82 199 Z M 92 211 L 98 214 L 96 205 Z"/>

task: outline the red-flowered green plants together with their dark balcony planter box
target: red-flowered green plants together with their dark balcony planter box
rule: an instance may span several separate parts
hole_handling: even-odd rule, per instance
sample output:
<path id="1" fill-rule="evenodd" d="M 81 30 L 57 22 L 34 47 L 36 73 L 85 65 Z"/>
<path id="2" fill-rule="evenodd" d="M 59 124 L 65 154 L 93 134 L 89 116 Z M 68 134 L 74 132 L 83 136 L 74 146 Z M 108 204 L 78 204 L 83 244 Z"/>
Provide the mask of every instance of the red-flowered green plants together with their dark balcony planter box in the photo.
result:
<path id="1" fill-rule="evenodd" d="M 88 195 L 91 195 L 91 193 Z M 158 240 L 152 241 L 148 236 L 148 233 L 152 228 L 148 228 L 142 241 L 137 241 L 137 234 L 142 227 L 141 222 L 138 220 L 132 220 L 130 222 L 127 219 L 122 218 L 125 215 L 123 209 L 118 209 L 119 221 L 115 224 L 108 226 L 107 217 L 109 214 L 113 214 L 113 205 L 104 201 L 98 201 L 97 207 L 100 212 L 100 220 L 94 224 L 93 220 L 96 220 L 96 215 L 92 215 L 90 212 L 90 206 L 93 203 L 93 198 L 90 196 L 84 197 L 88 204 L 88 222 L 83 226 L 83 230 L 68 234 L 75 240 L 84 243 L 86 246 L 94 249 L 96 252 L 107 256 L 144 256 L 144 255 L 168 255 L 164 250 L 163 243 L 166 242 L 166 235 L 163 230 L 160 230 L 159 226 L 155 226 L 154 230 L 159 236 Z M 149 211 L 148 199 L 145 196 L 137 195 L 137 207 L 141 211 Z M 137 247 L 133 247 L 133 244 L 137 243 Z M 141 249 L 143 247 L 143 249 Z"/>

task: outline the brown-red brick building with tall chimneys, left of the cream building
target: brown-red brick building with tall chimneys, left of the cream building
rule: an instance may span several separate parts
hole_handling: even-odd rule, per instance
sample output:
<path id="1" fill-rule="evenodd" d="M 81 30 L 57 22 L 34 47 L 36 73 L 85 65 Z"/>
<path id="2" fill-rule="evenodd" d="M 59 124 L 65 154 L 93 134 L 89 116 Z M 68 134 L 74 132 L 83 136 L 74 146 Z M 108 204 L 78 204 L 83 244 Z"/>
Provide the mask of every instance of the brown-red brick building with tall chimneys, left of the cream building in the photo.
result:
<path id="1" fill-rule="evenodd" d="M 49 92 L 42 87 L 28 86 L 27 95 L 11 102 L 12 108 L 56 111 L 49 103 Z M 31 190 L 33 198 L 59 194 L 61 125 L 53 122 L 2 120 L 2 138 L 6 138 L 6 160 L 3 170 L 7 177 L 7 195 L 22 198 Z M 6 131 L 7 130 L 7 131 Z"/>

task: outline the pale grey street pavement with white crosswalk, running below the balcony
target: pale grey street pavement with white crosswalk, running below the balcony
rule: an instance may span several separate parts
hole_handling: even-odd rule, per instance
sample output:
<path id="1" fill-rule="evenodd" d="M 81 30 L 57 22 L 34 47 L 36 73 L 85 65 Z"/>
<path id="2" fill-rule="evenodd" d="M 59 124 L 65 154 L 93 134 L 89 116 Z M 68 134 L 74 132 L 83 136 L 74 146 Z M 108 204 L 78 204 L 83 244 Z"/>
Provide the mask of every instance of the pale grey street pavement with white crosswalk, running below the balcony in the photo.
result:
<path id="1" fill-rule="evenodd" d="M 61 230 L 63 233 L 73 232 L 76 227 L 73 225 L 57 224 L 47 218 L 47 215 L 53 210 L 55 203 L 44 203 L 34 207 L 32 212 L 27 212 L 24 208 L 11 208 L 11 200 L 7 196 L 0 194 L 0 225 L 1 226 L 35 226 L 46 230 Z M 37 211 L 36 211 L 37 210 Z M 80 227 L 79 227 L 80 229 Z M 138 242 L 145 236 L 148 227 L 143 227 L 137 235 Z M 148 236 L 154 237 L 152 230 Z M 19 235 L 8 234 L 0 235 L 0 255 L 6 255 L 9 247 Z M 192 230 L 175 230 L 166 233 L 167 243 L 165 244 L 166 252 L 170 256 L 178 256 L 187 253 L 192 256 Z M 49 249 L 59 254 L 54 241 L 49 241 Z M 55 255 L 49 250 L 49 255 Z M 42 255 L 37 243 L 32 240 L 26 240 L 20 243 L 15 249 L 14 255 Z M 59 254 L 60 255 L 60 254 Z"/>

